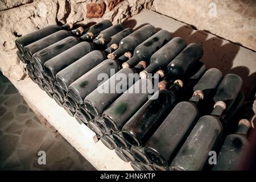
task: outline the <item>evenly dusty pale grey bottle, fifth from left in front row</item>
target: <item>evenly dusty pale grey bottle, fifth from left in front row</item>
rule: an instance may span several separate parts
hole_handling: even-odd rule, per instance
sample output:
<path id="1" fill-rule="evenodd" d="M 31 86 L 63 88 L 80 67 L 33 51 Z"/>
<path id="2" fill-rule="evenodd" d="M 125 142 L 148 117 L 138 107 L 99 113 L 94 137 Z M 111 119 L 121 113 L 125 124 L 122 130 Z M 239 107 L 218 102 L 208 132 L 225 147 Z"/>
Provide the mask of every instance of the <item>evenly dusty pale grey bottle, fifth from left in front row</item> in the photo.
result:
<path id="1" fill-rule="evenodd" d="M 59 83 L 60 87 L 67 92 L 68 86 L 71 85 L 72 82 L 90 71 L 90 69 L 96 67 L 96 65 L 104 61 L 105 58 L 106 55 L 102 51 L 95 50 L 89 52 L 87 55 L 75 61 L 75 63 L 72 63 L 67 68 L 57 73 L 56 81 Z"/>

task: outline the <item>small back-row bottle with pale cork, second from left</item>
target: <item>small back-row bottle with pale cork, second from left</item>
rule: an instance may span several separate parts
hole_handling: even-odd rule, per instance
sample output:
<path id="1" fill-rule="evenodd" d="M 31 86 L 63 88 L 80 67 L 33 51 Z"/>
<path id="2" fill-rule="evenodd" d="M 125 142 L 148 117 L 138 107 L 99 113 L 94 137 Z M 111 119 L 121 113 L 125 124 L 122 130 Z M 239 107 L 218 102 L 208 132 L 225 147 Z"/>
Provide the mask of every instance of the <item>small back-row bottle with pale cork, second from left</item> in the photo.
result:
<path id="1" fill-rule="evenodd" d="M 105 45 L 110 42 L 113 35 L 118 34 L 118 32 L 121 32 L 124 29 L 125 28 L 122 26 L 122 24 L 115 24 L 109 28 L 106 28 L 105 30 L 102 30 L 100 34 L 93 39 L 93 42 L 98 45 Z"/>

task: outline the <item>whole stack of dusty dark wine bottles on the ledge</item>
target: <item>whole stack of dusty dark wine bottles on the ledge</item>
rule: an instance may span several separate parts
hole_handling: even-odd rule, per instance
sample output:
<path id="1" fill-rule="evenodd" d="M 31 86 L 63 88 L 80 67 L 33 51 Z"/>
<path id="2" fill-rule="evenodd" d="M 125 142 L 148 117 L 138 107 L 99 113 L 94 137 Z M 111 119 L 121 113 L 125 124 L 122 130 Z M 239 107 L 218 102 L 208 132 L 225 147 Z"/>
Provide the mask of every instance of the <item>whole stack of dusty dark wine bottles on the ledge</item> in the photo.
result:
<path id="1" fill-rule="evenodd" d="M 199 44 L 109 20 L 47 26 L 15 43 L 31 80 L 135 170 L 211 169 L 210 151 L 212 169 L 238 166 L 250 122 L 222 133 L 243 101 L 242 80 L 207 70 Z"/>

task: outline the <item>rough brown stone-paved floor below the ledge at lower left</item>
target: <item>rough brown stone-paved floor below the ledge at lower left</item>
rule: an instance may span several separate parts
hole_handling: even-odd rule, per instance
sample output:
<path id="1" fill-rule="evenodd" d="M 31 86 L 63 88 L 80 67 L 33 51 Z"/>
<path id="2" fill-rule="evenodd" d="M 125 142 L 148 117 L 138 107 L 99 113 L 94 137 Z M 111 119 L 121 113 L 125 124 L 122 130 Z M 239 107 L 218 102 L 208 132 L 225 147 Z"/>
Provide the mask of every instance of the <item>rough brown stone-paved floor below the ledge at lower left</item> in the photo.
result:
<path id="1" fill-rule="evenodd" d="M 43 125 L 0 72 L 0 170 L 96 170 Z M 46 165 L 38 164 L 39 151 L 46 152 Z"/>

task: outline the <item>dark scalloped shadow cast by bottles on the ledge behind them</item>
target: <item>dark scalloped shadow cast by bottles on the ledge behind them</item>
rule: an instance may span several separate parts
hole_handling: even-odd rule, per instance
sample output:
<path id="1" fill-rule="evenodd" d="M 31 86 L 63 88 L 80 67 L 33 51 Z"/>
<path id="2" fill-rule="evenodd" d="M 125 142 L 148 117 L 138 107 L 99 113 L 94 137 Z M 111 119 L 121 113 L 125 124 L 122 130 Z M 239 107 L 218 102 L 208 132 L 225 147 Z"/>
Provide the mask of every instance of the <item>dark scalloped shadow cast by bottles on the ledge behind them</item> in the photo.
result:
<path id="1" fill-rule="evenodd" d="M 137 21 L 134 19 L 127 20 L 123 23 L 125 27 L 134 28 Z M 145 24 L 143 24 L 145 25 Z M 142 27 L 143 25 L 139 26 Z M 135 28 L 137 30 L 139 27 Z M 157 28 L 160 30 L 160 28 Z M 209 33 L 205 31 L 195 31 L 191 26 L 181 26 L 175 32 L 171 32 L 172 37 L 181 37 L 187 44 L 198 43 L 204 49 L 204 55 L 201 61 L 209 68 L 218 68 L 226 75 L 228 73 L 234 73 L 241 76 L 243 80 L 242 92 L 247 96 L 255 86 L 256 72 L 250 74 L 250 69 L 245 66 L 239 66 L 233 68 L 233 61 L 240 51 L 240 46 L 233 43 L 223 44 L 223 40 L 217 36 L 212 36 L 208 39 Z M 250 74 L 250 75 L 249 75 Z"/>

